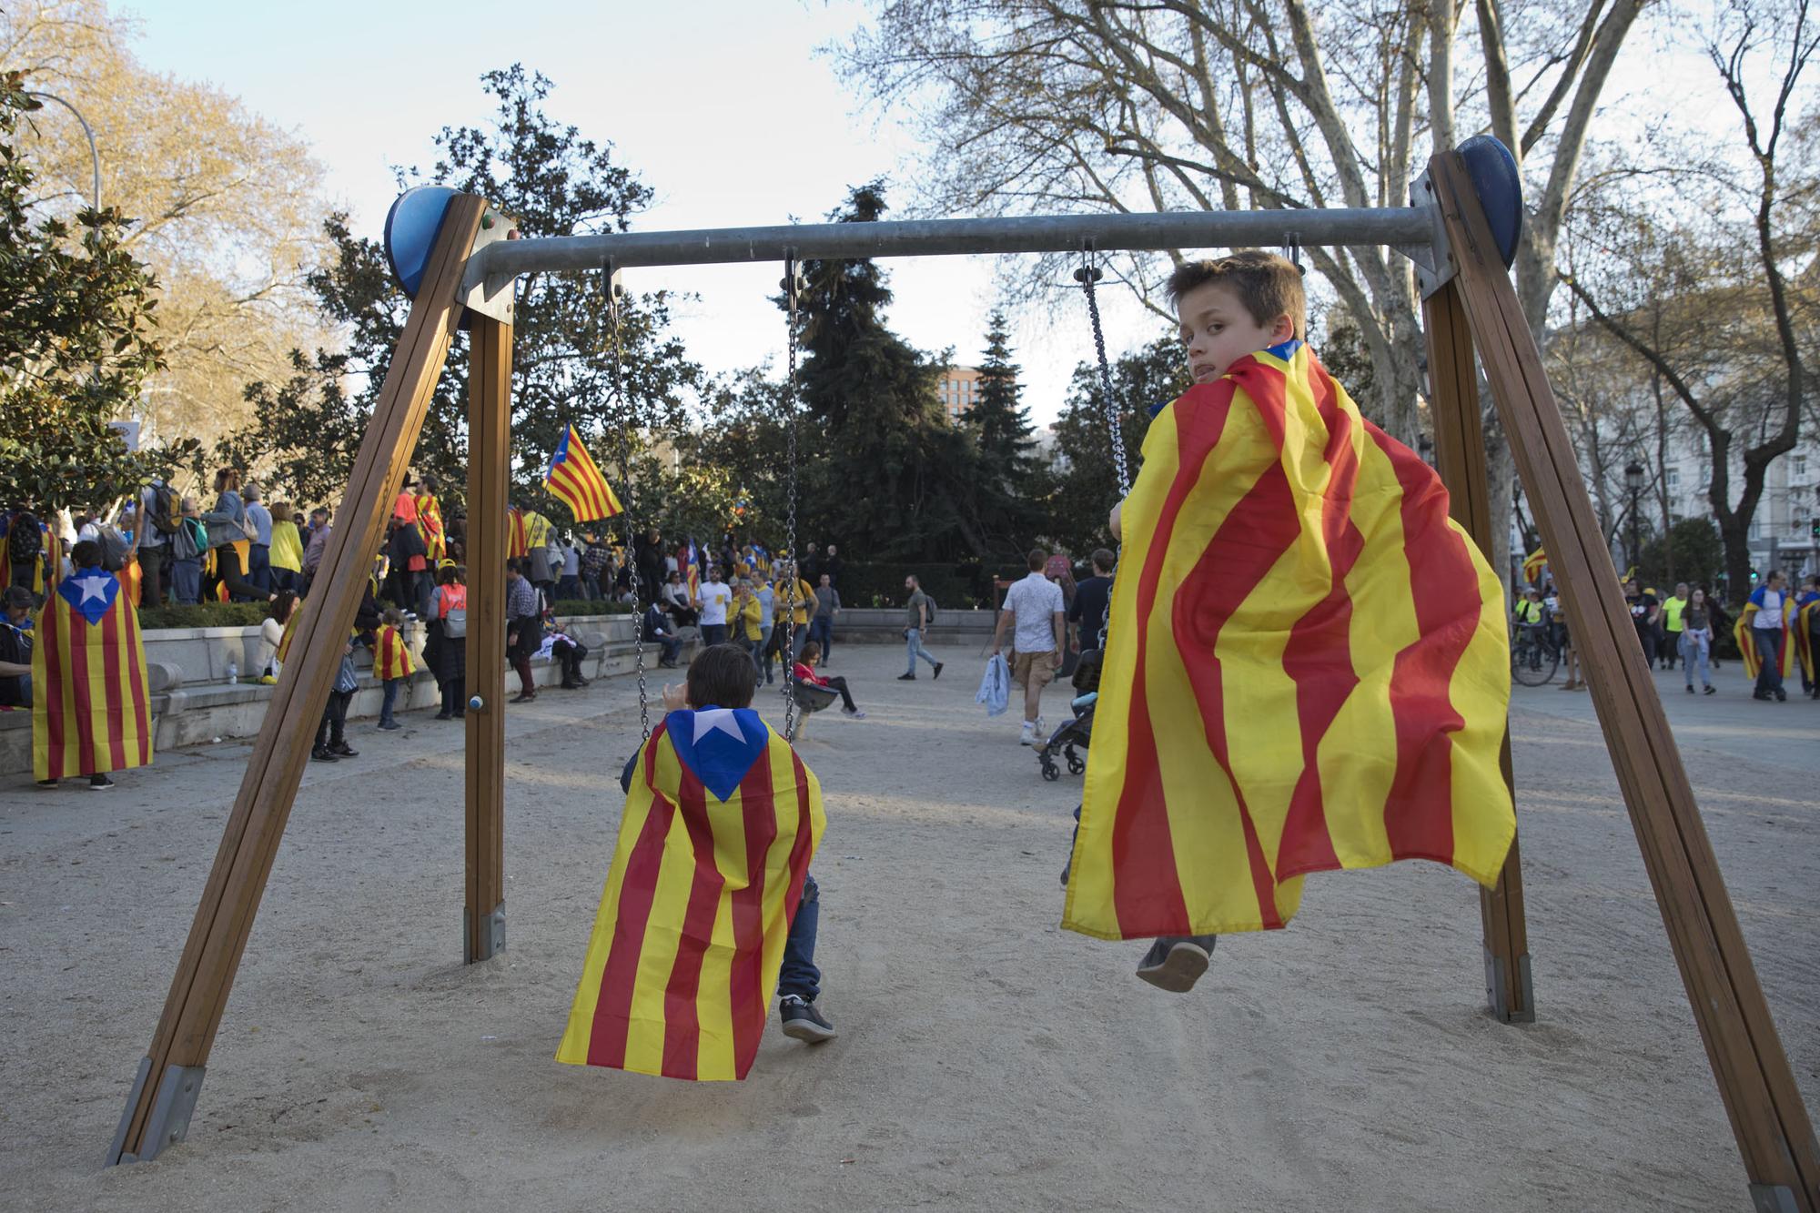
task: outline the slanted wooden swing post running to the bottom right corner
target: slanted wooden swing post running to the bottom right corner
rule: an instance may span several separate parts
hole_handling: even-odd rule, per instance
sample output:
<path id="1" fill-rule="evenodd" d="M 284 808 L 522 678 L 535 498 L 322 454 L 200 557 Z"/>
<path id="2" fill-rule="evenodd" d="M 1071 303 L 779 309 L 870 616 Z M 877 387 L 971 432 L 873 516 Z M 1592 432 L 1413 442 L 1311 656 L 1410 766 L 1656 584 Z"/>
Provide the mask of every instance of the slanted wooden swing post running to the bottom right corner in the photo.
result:
<path id="1" fill-rule="evenodd" d="M 1458 153 L 1429 160 L 1492 403 L 1536 510 L 1643 867 L 1762 1213 L 1820 1211 L 1820 1146 L 1776 1036 L 1542 352 Z M 1431 366 L 1431 373 L 1434 368 Z"/>

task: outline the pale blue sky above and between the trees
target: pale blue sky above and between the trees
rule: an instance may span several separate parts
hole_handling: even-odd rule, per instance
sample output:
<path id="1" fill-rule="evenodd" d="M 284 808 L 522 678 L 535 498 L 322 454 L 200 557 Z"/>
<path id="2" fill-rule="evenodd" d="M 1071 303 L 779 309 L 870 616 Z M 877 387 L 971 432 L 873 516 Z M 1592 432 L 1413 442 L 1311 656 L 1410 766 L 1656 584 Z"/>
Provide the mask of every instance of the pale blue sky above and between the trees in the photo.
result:
<path id="1" fill-rule="evenodd" d="M 522 62 L 550 76 L 550 111 L 597 140 L 657 191 L 641 229 L 814 220 L 846 186 L 877 175 L 899 184 L 914 140 L 857 102 L 815 47 L 850 33 L 861 5 L 846 0 L 521 5 L 322 0 L 304 5 L 228 0 L 140 0 L 136 53 L 157 71 L 207 80 L 253 111 L 295 129 L 328 169 L 357 231 L 377 235 L 395 195 L 389 166 L 433 158 L 442 126 L 480 122 L 479 76 Z M 992 260 L 888 262 L 892 324 L 925 350 L 956 346 L 977 359 L 994 302 Z M 666 286 L 701 299 L 677 304 L 690 355 L 710 370 L 774 357 L 783 322 L 768 302 L 777 266 L 699 266 L 628 273 L 635 290 Z M 1110 293 L 1110 291 L 1108 291 Z M 1112 344 L 1154 333 L 1136 306 L 1114 308 Z M 1074 362 L 1092 350 L 1085 311 L 1050 331 L 1030 317 L 1017 331 L 1032 413 L 1056 415 Z"/>

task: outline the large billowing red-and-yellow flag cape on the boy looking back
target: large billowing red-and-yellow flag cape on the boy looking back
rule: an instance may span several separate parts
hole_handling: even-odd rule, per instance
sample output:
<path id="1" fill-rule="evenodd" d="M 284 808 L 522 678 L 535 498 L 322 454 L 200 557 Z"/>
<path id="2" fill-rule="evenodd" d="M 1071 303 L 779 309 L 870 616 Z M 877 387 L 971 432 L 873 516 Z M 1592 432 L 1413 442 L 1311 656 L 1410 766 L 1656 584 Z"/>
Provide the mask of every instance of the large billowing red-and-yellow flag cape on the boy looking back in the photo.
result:
<path id="1" fill-rule="evenodd" d="M 1143 455 L 1063 925 L 1283 927 L 1307 872 L 1392 860 L 1494 885 L 1503 588 L 1434 472 L 1301 342 L 1188 388 Z"/>

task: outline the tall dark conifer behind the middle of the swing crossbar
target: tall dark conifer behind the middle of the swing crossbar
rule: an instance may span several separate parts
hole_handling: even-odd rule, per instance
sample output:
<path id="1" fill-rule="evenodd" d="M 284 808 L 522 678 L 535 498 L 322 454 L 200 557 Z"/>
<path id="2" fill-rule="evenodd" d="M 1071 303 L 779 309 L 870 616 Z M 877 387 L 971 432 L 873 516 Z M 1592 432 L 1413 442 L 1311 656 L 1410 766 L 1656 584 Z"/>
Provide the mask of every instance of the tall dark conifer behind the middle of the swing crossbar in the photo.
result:
<path id="1" fill-rule="evenodd" d="M 885 186 L 855 186 L 830 219 L 874 222 Z M 872 260 L 806 260 L 801 301 L 803 523 L 874 561 L 990 554 L 972 499 L 974 452 L 935 397 L 937 359 L 885 324 L 892 291 Z M 797 539 L 804 530 L 799 526 Z"/>

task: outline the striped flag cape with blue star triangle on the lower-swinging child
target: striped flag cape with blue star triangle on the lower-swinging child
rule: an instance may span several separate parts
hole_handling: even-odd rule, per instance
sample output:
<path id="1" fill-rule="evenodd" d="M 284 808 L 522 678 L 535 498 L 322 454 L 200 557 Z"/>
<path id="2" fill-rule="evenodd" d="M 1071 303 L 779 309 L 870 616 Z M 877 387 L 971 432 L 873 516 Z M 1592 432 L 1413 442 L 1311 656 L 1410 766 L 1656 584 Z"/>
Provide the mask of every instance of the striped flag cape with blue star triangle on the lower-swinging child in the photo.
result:
<path id="1" fill-rule="evenodd" d="M 559 1062 L 744 1078 L 826 818 L 752 708 L 670 712 L 639 752 Z"/>

